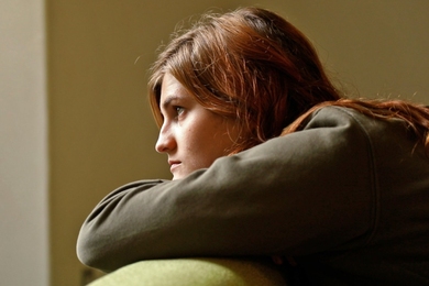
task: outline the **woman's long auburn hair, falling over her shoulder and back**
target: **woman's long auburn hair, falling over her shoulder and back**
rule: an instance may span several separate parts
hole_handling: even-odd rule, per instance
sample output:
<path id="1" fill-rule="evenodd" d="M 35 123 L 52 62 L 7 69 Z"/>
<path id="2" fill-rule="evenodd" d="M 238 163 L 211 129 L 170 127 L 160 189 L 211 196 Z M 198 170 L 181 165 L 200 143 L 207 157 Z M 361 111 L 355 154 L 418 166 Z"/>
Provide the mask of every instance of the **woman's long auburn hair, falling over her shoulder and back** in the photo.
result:
<path id="1" fill-rule="evenodd" d="M 345 99 L 329 80 L 310 41 L 282 16 L 260 8 L 207 13 L 177 35 L 152 67 L 148 94 L 161 127 L 161 86 L 173 75 L 198 103 L 235 120 L 231 154 L 300 129 L 324 106 L 380 119 L 400 118 L 429 154 L 429 109 L 404 101 Z"/>

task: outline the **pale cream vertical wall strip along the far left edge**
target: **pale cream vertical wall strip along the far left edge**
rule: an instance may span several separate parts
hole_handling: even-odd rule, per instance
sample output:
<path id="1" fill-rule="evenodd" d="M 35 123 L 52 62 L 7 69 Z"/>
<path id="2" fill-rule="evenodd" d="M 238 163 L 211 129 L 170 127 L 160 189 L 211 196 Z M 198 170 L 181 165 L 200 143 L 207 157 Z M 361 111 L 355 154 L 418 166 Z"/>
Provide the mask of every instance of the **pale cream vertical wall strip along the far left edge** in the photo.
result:
<path id="1" fill-rule="evenodd" d="M 0 1 L 0 285 L 47 285 L 42 0 Z"/>

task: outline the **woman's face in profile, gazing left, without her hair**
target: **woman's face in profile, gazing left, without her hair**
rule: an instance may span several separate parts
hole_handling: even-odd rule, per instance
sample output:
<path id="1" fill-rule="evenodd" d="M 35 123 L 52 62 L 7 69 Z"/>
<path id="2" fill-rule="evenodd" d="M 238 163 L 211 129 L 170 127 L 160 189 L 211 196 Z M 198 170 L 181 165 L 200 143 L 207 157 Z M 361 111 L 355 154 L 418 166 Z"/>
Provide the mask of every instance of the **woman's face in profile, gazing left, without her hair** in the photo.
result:
<path id="1" fill-rule="evenodd" d="M 168 155 L 173 179 L 209 167 L 238 139 L 232 119 L 205 109 L 170 74 L 163 78 L 160 109 L 164 122 L 155 148 Z"/>

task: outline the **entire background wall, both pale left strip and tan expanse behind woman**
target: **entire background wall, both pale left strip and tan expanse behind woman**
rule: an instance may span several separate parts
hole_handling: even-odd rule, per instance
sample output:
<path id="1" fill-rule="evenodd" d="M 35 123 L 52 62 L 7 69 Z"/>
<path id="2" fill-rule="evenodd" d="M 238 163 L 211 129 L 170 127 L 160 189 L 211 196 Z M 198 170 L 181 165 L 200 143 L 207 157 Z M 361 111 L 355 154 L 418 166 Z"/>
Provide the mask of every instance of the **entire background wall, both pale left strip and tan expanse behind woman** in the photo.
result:
<path id="1" fill-rule="evenodd" d="M 47 179 L 51 285 L 81 284 L 76 237 L 91 208 L 124 183 L 169 176 L 145 98 L 156 47 L 183 19 L 255 2 L 47 0 L 46 51 L 43 1 L 1 2 L 1 285 L 47 285 Z M 257 3 L 306 32 L 346 89 L 429 103 L 428 1 Z"/>

